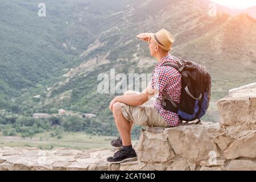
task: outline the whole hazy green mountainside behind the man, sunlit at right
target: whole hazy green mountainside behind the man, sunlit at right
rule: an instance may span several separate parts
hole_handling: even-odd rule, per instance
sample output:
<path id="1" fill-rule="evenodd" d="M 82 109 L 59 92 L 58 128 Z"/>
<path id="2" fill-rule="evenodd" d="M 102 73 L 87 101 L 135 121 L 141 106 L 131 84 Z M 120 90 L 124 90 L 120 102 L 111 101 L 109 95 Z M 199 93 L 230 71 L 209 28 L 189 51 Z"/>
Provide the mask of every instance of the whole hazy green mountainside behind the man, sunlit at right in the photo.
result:
<path id="1" fill-rule="evenodd" d="M 247 14 L 209 16 L 208 1 L 3 0 L 0 17 L 0 108 L 28 115 L 59 109 L 93 113 L 113 127 L 100 73 L 151 73 L 156 61 L 136 35 L 170 30 L 171 52 L 205 65 L 212 102 L 205 119 L 218 118 L 215 102 L 228 89 L 255 82 L 256 20 Z"/>

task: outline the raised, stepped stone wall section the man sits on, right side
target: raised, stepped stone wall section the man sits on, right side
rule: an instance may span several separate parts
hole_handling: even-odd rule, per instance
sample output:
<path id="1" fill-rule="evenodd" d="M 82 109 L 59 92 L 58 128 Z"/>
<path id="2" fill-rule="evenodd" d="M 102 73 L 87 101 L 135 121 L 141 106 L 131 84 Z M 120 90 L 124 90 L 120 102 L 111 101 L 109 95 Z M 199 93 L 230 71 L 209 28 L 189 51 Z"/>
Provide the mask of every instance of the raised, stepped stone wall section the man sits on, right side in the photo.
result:
<path id="1" fill-rule="evenodd" d="M 143 131 L 139 164 L 126 169 L 256 170 L 256 84 L 217 102 L 220 123 Z"/>

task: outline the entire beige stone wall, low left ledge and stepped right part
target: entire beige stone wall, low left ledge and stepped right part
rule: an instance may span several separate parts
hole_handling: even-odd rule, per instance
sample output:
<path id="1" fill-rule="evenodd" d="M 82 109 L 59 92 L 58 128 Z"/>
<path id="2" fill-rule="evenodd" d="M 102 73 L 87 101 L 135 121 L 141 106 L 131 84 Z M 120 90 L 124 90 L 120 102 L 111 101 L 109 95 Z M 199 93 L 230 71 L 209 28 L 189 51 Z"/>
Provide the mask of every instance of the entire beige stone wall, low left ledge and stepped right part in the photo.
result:
<path id="1" fill-rule="evenodd" d="M 109 150 L 0 148 L 0 170 L 256 170 L 256 84 L 230 90 L 217 103 L 220 123 L 150 127 L 138 160 L 109 164 Z"/>

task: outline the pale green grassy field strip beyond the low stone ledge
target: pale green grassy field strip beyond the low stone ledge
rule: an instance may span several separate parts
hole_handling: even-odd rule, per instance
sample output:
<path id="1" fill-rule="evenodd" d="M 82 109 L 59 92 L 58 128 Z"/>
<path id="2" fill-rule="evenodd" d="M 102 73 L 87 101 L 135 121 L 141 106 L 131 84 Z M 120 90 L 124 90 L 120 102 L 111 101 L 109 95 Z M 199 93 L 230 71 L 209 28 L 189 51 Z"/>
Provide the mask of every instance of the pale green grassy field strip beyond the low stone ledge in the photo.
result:
<path id="1" fill-rule="evenodd" d="M 88 150 L 90 148 L 113 148 L 110 146 L 110 141 L 114 137 L 103 137 L 97 135 L 88 135 L 82 132 L 68 133 L 65 132 L 62 138 L 51 137 L 50 132 L 36 134 L 32 138 L 22 138 L 19 135 L 14 137 L 3 136 L 0 133 L 0 147 L 39 147 L 41 149 L 52 149 L 54 147 L 75 148 L 78 150 Z M 137 140 L 133 140 L 133 144 Z"/>

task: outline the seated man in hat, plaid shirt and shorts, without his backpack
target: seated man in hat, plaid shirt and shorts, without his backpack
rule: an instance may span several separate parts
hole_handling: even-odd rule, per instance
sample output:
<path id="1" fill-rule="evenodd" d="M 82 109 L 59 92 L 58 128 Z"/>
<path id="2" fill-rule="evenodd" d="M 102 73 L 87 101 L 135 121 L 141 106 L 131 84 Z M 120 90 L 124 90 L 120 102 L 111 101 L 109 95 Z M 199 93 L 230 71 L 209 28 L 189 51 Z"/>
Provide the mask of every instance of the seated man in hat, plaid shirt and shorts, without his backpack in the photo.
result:
<path id="1" fill-rule="evenodd" d="M 155 102 L 144 104 L 159 94 L 159 100 L 166 93 L 175 102 L 180 102 L 181 74 L 173 67 L 162 66 L 166 62 L 176 64 L 169 51 L 172 49 L 174 38 L 165 29 L 152 33 L 139 34 L 137 38 L 148 42 L 150 54 L 158 60 L 150 84 L 142 93 L 126 92 L 124 96 L 115 97 L 109 105 L 113 112 L 115 124 L 121 138 L 112 141 L 112 146 L 121 147 L 114 156 L 107 158 L 110 163 L 122 163 L 137 160 L 137 154 L 131 145 L 131 129 L 134 124 L 150 127 L 174 127 L 180 123 L 176 113 L 164 110 L 163 106 Z"/>

